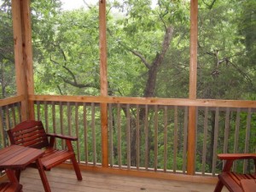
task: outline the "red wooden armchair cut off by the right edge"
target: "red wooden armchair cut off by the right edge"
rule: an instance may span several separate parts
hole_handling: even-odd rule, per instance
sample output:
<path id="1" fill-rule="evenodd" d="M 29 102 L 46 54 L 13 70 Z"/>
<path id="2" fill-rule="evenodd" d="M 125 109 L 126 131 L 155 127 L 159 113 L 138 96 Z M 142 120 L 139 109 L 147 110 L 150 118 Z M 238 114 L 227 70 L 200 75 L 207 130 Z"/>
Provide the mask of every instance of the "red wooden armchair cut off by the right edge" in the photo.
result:
<path id="1" fill-rule="evenodd" d="M 218 159 L 226 160 L 226 162 L 222 173 L 218 175 L 218 183 L 214 192 L 220 192 L 223 186 L 231 192 L 256 191 L 256 172 L 240 174 L 230 171 L 234 160 L 253 159 L 256 168 L 256 154 L 218 154 Z"/>

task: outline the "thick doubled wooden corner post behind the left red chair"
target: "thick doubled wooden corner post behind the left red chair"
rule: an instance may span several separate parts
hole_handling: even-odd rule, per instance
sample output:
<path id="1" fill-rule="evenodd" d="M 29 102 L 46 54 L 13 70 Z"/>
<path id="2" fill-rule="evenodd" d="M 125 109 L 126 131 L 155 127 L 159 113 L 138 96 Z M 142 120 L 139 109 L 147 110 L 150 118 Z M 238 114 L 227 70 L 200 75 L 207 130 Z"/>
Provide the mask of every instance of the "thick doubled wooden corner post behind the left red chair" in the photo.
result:
<path id="1" fill-rule="evenodd" d="M 21 120 L 34 119 L 33 103 L 28 100 L 29 95 L 34 95 L 29 6 L 30 0 L 12 0 L 17 95 L 25 98 L 21 102 Z"/>

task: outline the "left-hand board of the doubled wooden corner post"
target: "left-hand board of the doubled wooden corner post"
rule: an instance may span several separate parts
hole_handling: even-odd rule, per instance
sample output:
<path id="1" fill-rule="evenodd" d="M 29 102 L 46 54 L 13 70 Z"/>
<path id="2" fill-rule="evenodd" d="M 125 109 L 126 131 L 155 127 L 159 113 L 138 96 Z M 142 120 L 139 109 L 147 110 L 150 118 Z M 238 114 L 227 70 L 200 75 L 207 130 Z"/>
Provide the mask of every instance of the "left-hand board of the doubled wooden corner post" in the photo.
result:
<path id="1" fill-rule="evenodd" d="M 21 120 L 28 118 L 27 91 L 26 91 L 26 74 L 25 63 L 23 60 L 23 40 L 21 25 L 21 3 L 20 0 L 12 0 L 13 29 L 15 41 L 15 73 L 17 84 L 17 95 L 25 96 L 25 100 L 21 102 Z"/>

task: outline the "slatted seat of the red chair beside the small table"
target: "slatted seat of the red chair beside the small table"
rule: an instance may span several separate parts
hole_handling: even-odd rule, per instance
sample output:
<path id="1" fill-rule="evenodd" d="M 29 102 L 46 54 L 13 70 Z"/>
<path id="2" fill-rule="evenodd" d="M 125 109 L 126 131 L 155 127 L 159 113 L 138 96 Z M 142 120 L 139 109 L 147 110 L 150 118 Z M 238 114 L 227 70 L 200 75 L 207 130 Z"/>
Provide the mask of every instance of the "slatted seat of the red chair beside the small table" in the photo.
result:
<path id="1" fill-rule="evenodd" d="M 47 149 L 44 156 L 41 158 L 42 164 L 45 170 L 50 170 L 54 166 L 60 165 L 63 160 L 70 159 L 75 154 L 73 151 L 59 150 L 59 149 Z"/>

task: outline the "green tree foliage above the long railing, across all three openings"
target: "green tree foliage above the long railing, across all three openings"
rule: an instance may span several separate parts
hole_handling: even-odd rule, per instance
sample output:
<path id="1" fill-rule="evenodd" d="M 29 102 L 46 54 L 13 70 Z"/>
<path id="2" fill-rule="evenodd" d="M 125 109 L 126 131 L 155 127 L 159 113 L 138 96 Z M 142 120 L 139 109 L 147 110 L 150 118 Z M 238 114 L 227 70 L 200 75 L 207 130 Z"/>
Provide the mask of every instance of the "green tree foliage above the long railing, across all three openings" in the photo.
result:
<path id="1" fill-rule="evenodd" d="M 248 33 L 253 27 L 253 13 L 251 20 L 241 21 L 246 17 L 244 9 L 251 10 L 254 3 L 248 1 L 247 6 L 242 6 L 243 9 L 239 1 L 212 4 L 204 1 L 199 4 L 198 97 L 251 98 L 255 90 L 255 51 L 245 57 L 247 50 L 253 49 L 253 44 L 247 45 L 242 39 L 247 37 L 253 40 L 253 34 Z M 109 9 L 114 9 L 108 12 L 109 95 L 143 96 L 150 77 L 142 58 L 149 65 L 153 63 L 160 53 L 166 26 L 172 25 L 171 48 L 157 71 L 154 95 L 188 97 L 189 3 L 162 0 L 153 6 L 150 1 L 113 1 L 113 4 L 109 3 Z M 40 84 L 36 86 L 38 93 L 98 95 L 96 8 L 42 13 L 40 17 L 44 20 L 38 22 L 38 26 L 44 33 L 39 31 L 36 33 L 38 40 L 35 39 L 38 48 L 35 49 L 36 69 L 42 68 L 35 78 Z M 134 55 L 135 52 L 141 57 Z M 44 65 L 38 67 L 42 63 Z M 47 82 L 47 85 L 38 90 L 43 87 L 42 82 Z"/>

